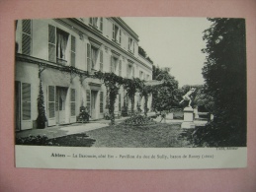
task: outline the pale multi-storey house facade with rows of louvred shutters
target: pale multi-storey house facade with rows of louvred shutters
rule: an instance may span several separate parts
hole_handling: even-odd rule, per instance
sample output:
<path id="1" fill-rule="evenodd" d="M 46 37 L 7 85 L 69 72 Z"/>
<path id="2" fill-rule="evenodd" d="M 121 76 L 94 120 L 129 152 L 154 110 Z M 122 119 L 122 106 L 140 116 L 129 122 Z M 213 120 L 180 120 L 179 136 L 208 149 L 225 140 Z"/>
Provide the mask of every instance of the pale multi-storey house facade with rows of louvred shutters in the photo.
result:
<path id="1" fill-rule="evenodd" d="M 152 79 L 152 64 L 138 54 L 138 35 L 121 18 L 19 20 L 16 22 L 16 130 L 37 128 L 40 80 L 47 126 L 76 122 L 80 106 L 91 119 L 108 111 L 104 84 L 81 72 L 113 72 L 124 78 Z M 117 96 L 121 111 L 128 96 Z M 151 97 L 148 100 L 150 110 Z M 143 98 L 135 96 L 135 105 Z M 135 107 L 136 108 L 136 107 Z M 141 107 L 143 109 L 143 107 Z"/>

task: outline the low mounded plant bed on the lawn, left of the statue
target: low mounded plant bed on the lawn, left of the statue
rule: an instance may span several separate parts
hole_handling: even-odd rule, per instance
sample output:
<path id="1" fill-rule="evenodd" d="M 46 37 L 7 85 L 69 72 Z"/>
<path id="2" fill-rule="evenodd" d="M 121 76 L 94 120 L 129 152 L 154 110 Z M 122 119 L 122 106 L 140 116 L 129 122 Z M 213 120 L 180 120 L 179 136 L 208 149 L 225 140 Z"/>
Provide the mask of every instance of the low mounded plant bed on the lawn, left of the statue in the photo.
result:
<path id="1" fill-rule="evenodd" d="M 150 117 L 142 116 L 139 113 L 134 113 L 130 118 L 126 119 L 123 124 L 131 126 L 143 126 L 156 124 Z"/>

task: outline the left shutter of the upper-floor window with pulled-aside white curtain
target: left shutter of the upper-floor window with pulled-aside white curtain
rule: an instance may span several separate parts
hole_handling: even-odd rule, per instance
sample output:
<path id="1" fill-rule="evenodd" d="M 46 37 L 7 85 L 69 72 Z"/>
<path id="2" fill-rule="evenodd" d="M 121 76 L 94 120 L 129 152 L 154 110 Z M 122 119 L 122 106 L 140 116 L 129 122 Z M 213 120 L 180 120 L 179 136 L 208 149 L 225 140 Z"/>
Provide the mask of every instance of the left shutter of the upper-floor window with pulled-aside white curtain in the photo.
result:
<path id="1" fill-rule="evenodd" d="M 56 62 L 56 28 L 48 25 L 48 60 Z"/>

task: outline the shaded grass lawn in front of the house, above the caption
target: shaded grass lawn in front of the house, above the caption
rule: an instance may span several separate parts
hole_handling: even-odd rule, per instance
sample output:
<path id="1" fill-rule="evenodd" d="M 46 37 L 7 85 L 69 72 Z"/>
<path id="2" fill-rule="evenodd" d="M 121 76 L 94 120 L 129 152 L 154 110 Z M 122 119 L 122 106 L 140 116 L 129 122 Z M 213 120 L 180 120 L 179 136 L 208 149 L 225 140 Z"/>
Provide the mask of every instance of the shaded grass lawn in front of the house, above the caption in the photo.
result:
<path id="1" fill-rule="evenodd" d="M 54 139 L 59 146 L 107 148 L 180 148 L 192 147 L 188 136 L 192 130 L 180 124 L 157 123 L 148 126 L 118 124 L 82 134 Z"/>

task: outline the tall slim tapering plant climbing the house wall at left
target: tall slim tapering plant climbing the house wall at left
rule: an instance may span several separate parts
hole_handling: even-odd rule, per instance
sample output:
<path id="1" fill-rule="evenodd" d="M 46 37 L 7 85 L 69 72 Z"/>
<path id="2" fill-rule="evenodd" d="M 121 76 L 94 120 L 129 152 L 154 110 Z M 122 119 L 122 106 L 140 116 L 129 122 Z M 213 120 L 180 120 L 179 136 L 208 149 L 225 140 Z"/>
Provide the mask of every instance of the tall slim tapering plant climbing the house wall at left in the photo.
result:
<path id="1" fill-rule="evenodd" d="M 40 78 L 40 93 L 38 96 L 38 128 L 45 128 L 45 122 L 47 121 L 45 115 L 45 107 L 44 107 L 44 99 L 43 99 L 43 88 L 42 88 L 42 80 Z"/>

